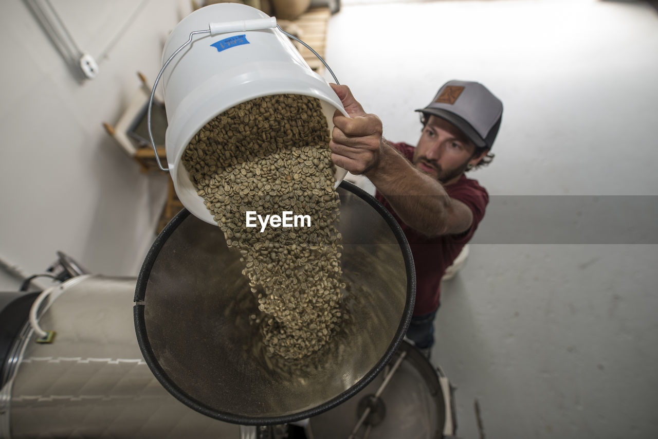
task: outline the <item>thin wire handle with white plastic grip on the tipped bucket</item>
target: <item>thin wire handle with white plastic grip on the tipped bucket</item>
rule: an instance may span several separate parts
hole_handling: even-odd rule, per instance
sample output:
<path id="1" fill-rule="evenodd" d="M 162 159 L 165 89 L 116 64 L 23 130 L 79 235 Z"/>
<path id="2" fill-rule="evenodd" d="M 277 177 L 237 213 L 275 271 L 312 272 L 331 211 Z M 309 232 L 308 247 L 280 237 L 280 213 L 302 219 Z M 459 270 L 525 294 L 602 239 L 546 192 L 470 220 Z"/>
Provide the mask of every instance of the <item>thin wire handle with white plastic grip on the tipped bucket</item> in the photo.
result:
<path id="1" fill-rule="evenodd" d="M 190 38 L 188 41 L 183 43 L 182 46 L 178 47 L 174 53 L 169 57 L 168 60 L 166 60 L 166 63 L 164 63 L 163 68 L 160 69 L 160 73 L 158 74 L 157 78 L 155 78 L 155 83 L 153 84 L 153 90 L 151 90 L 151 99 L 149 99 L 149 110 L 147 113 L 147 126 L 149 129 L 149 140 L 151 140 L 151 146 L 153 147 L 153 152 L 155 152 L 155 161 L 158 164 L 158 167 L 161 170 L 164 170 L 164 172 L 169 172 L 168 168 L 163 167 L 162 163 L 160 162 L 160 157 L 158 157 L 158 151 L 157 148 L 155 147 L 155 140 L 153 140 L 153 132 L 151 131 L 151 107 L 153 107 L 153 96 L 155 95 L 155 88 L 158 85 L 158 82 L 160 81 L 161 76 L 163 75 L 164 69 L 166 66 L 171 63 L 172 59 L 178 55 L 186 45 L 190 44 L 192 42 L 192 37 L 195 34 L 211 34 L 211 35 L 216 35 L 216 34 L 226 34 L 228 32 L 245 32 L 247 30 L 262 30 L 262 29 L 273 29 L 273 28 L 278 28 L 281 32 L 284 33 L 284 35 L 288 36 L 289 38 L 294 39 L 295 41 L 299 41 L 299 43 L 303 44 L 307 49 L 309 49 L 313 55 L 318 57 L 320 61 L 322 61 L 322 64 L 327 68 L 329 73 L 331 74 L 332 78 L 334 78 L 334 81 L 336 84 L 340 85 L 340 82 L 338 82 L 338 79 L 336 78 L 336 75 L 334 72 L 331 70 L 331 68 L 327 65 L 327 63 L 318 55 L 318 53 L 311 48 L 307 43 L 304 41 L 301 41 L 301 39 L 288 34 L 285 30 L 281 28 L 278 24 L 276 24 L 276 17 L 270 17 L 270 18 L 257 18 L 255 20 L 239 20 L 239 21 L 230 21 L 230 22 L 220 22 L 220 23 L 209 23 L 208 24 L 208 29 L 207 30 L 195 30 L 194 32 L 190 32 Z"/>

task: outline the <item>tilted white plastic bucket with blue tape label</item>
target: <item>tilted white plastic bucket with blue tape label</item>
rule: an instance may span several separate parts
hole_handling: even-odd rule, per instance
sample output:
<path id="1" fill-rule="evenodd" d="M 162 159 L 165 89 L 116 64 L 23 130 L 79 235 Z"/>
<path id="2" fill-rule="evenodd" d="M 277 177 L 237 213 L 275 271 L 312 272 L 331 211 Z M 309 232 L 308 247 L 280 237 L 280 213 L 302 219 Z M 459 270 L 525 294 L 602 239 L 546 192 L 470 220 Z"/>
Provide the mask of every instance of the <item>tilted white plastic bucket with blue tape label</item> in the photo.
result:
<path id="1" fill-rule="evenodd" d="M 239 3 L 203 7 L 172 30 L 164 44 L 163 65 L 188 41 L 191 32 L 208 30 L 209 23 L 262 18 L 269 17 Z M 181 163 L 191 138 L 207 122 L 240 103 L 283 93 L 320 99 L 330 133 L 336 109 L 347 116 L 334 90 L 311 70 L 290 39 L 276 28 L 195 35 L 192 43 L 164 70 L 162 83 L 168 122 L 165 151 L 174 189 L 192 215 L 211 224 L 215 220 Z M 337 169 L 336 186 L 345 173 Z"/>

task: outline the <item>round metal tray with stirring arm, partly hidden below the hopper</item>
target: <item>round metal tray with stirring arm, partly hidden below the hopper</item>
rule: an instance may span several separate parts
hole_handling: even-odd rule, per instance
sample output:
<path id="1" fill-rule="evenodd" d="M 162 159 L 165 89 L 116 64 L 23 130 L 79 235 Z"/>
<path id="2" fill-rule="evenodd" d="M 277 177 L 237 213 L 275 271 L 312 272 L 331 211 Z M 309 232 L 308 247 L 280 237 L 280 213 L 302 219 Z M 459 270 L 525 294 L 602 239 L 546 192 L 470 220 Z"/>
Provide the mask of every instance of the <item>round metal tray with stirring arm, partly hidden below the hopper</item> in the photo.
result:
<path id="1" fill-rule="evenodd" d="M 438 370 L 404 342 L 361 392 L 309 419 L 306 435 L 313 439 L 442 438 L 446 423 L 452 423 L 445 381 L 442 386 Z"/>

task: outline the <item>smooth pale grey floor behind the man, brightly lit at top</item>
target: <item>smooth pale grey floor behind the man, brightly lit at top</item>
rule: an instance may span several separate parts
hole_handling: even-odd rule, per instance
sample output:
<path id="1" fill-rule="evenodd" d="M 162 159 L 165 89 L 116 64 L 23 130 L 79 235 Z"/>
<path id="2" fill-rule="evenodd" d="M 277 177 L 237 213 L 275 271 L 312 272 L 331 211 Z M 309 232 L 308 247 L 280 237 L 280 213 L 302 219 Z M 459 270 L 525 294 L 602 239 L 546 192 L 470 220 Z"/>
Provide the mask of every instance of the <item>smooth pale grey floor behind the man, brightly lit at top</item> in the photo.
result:
<path id="1" fill-rule="evenodd" d="M 450 79 L 505 105 L 472 174 L 492 195 L 480 244 L 437 318 L 459 436 L 479 437 L 478 398 L 487 437 L 658 437 L 657 54 L 644 2 L 343 3 L 330 21 L 329 65 L 392 141 L 417 142 L 414 110 Z"/>

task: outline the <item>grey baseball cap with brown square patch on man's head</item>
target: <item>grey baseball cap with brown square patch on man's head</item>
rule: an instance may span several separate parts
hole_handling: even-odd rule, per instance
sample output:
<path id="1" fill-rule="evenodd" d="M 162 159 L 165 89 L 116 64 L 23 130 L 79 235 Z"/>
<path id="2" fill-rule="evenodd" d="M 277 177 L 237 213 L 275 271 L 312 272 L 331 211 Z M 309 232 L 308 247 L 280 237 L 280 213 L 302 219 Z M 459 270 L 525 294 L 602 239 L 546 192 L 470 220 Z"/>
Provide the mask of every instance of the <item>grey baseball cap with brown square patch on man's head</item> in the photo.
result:
<path id="1" fill-rule="evenodd" d="M 430 105 L 420 111 L 457 126 L 477 147 L 491 148 L 501 117 L 503 103 L 478 82 L 448 81 Z"/>

